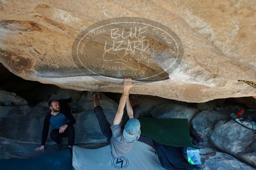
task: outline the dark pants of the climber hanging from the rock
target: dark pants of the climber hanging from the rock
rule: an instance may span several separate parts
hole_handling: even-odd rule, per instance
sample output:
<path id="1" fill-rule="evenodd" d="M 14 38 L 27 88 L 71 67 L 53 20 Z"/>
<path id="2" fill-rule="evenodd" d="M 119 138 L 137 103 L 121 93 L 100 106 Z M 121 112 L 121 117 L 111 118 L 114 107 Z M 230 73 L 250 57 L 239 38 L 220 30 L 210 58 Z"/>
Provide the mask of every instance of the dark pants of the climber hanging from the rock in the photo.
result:
<path id="1" fill-rule="evenodd" d="M 137 105 L 133 106 L 132 110 L 133 110 L 133 117 L 137 119 L 141 112 L 140 105 L 137 104 Z M 98 122 L 100 124 L 100 130 L 101 130 L 102 134 L 107 138 L 107 141 L 110 142 L 110 139 L 112 137 L 112 130 L 110 128 L 111 125 L 109 124 L 109 122 L 103 112 L 102 107 L 96 106 L 94 108 L 94 113 L 95 113 L 95 115 L 98 119 Z"/>

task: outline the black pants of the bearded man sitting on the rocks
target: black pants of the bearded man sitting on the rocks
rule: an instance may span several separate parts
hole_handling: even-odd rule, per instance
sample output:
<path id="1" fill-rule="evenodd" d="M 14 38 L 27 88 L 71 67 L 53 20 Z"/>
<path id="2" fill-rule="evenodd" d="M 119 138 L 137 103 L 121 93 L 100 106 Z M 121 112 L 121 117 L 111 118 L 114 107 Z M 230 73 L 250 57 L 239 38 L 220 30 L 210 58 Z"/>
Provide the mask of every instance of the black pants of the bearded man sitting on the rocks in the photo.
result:
<path id="1" fill-rule="evenodd" d="M 68 137 L 68 145 L 73 146 L 75 143 L 75 128 L 74 126 L 68 125 L 64 132 L 60 133 L 59 129 L 53 129 L 50 133 L 50 138 L 54 140 L 57 144 L 60 144 L 60 138 Z"/>

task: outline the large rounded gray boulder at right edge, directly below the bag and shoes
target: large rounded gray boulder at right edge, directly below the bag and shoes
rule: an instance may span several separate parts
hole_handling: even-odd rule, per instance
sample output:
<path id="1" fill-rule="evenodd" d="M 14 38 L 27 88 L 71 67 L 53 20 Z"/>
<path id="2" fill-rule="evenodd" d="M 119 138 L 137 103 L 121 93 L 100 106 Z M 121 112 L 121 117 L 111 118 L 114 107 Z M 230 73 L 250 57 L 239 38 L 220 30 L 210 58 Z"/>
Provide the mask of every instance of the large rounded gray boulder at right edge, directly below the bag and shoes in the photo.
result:
<path id="1" fill-rule="evenodd" d="M 208 133 L 210 143 L 221 151 L 256 167 L 256 134 L 254 131 L 234 120 L 224 123 L 224 120 L 220 120 Z"/>

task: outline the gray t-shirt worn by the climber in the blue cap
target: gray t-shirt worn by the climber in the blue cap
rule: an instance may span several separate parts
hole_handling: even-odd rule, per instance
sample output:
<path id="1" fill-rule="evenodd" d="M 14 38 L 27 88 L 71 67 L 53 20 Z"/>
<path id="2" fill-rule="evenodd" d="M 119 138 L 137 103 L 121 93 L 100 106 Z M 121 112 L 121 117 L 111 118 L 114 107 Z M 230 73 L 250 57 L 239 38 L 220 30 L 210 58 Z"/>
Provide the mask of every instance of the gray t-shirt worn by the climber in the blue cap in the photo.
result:
<path id="1" fill-rule="evenodd" d="M 110 149 L 113 158 L 118 158 L 128 153 L 134 143 L 140 138 L 140 131 L 138 132 L 137 138 L 134 140 L 128 140 L 123 136 L 123 130 L 120 124 L 116 124 L 110 127 L 112 130 L 112 137 L 110 139 Z"/>

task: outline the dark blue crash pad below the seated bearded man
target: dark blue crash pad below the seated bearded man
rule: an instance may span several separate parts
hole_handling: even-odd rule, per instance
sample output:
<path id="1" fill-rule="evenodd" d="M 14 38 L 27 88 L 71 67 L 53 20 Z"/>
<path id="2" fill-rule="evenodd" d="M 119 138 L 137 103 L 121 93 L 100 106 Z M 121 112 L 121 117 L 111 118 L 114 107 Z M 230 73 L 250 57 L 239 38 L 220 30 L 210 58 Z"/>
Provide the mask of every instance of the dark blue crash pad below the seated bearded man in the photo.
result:
<path id="1" fill-rule="evenodd" d="M 8 170 L 45 170 L 45 169 L 72 169 L 72 157 L 69 149 L 50 153 L 43 156 L 26 159 L 0 159 L 0 169 Z"/>

